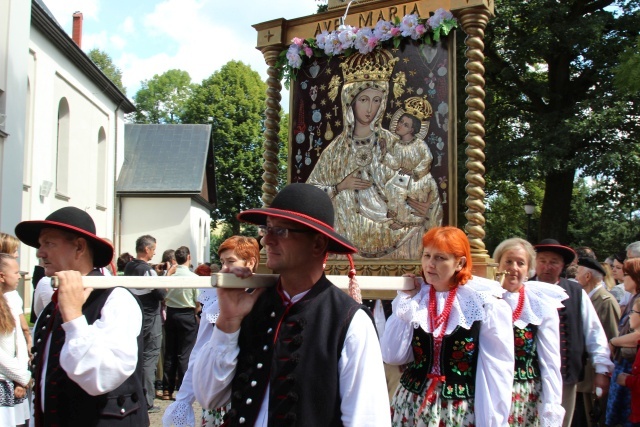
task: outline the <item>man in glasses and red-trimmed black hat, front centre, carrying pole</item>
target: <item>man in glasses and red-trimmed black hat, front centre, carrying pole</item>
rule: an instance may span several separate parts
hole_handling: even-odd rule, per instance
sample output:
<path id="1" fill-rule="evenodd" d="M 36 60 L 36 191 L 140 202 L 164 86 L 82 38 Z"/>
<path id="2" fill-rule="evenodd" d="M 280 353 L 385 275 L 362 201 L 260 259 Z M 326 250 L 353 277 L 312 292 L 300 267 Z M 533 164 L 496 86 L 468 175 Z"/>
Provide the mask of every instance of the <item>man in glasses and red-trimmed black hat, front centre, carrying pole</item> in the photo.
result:
<path id="1" fill-rule="evenodd" d="M 370 314 L 324 275 L 327 253 L 356 252 L 333 217 L 329 196 L 308 184 L 238 215 L 262 228 L 267 267 L 280 280 L 253 293 L 218 289 L 220 316 L 194 364 L 194 393 L 203 408 L 230 401 L 230 426 L 391 423 Z"/>

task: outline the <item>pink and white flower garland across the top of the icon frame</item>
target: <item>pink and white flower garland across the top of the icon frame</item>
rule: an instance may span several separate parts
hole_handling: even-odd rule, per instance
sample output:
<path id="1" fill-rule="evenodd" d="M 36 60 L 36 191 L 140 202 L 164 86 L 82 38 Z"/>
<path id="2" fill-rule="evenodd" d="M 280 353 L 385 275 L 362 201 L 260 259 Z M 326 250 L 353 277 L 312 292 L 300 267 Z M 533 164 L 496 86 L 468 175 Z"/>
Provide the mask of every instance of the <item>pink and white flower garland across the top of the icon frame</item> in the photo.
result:
<path id="1" fill-rule="evenodd" d="M 276 67 L 280 69 L 280 77 L 284 78 L 285 86 L 289 88 L 289 82 L 295 80 L 306 58 L 348 57 L 356 51 L 366 55 L 381 47 L 399 48 L 406 38 L 432 44 L 457 27 L 458 21 L 453 14 L 442 8 L 428 19 L 421 19 L 413 13 L 402 19 L 396 16 L 393 22 L 378 21 L 374 28 L 340 25 L 337 30 L 323 31 L 315 38 L 304 40 L 294 37 L 289 49 L 280 53 Z"/>

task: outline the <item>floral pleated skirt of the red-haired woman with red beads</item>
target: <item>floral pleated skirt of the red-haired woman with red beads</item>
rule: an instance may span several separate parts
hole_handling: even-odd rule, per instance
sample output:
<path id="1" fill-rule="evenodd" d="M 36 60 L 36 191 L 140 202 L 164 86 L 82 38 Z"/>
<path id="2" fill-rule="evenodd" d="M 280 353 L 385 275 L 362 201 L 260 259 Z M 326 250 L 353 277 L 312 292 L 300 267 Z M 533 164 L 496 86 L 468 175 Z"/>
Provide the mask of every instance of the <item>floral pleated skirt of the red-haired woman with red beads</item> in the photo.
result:
<path id="1" fill-rule="evenodd" d="M 398 386 L 391 401 L 391 425 L 394 427 L 466 427 L 475 425 L 473 399 L 443 399 L 441 391 L 442 384 L 439 384 L 435 389 L 433 402 L 425 405 L 418 418 L 420 406 L 425 398 L 424 394 L 415 394 L 402 385 Z"/>

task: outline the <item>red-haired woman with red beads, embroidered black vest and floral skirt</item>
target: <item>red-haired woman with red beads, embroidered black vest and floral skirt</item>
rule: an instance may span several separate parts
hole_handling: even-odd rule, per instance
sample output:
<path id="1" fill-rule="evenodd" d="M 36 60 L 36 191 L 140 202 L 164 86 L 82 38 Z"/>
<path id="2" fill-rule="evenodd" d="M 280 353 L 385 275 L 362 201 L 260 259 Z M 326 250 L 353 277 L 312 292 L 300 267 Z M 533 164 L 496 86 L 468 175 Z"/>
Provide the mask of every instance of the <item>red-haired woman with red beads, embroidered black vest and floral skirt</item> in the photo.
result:
<path id="1" fill-rule="evenodd" d="M 422 238 L 423 280 L 399 292 L 381 340 L 407 364 L 391 403 L 394 426 L 505 426 L 513 383 L 511 310 L 497 282 L 472 277 L 467 236 L 437 227 Z"/>

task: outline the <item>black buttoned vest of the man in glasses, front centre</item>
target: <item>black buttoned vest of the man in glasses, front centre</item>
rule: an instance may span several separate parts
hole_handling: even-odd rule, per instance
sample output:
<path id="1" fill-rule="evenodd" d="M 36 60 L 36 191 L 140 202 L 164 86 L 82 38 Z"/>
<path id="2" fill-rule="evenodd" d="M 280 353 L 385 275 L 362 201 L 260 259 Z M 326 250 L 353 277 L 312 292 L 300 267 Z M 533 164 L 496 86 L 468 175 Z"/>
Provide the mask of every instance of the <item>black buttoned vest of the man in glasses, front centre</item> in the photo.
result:
<path id="1" fill-rule="evenodd" d="M 270 426 L 341 426 L 338 362 L 359 309 L 324 275 L 289 308 L 265 291 L 242 321 L 228 425 L 254 425 L 269 385 Z"/>

